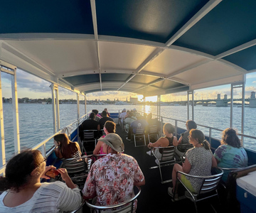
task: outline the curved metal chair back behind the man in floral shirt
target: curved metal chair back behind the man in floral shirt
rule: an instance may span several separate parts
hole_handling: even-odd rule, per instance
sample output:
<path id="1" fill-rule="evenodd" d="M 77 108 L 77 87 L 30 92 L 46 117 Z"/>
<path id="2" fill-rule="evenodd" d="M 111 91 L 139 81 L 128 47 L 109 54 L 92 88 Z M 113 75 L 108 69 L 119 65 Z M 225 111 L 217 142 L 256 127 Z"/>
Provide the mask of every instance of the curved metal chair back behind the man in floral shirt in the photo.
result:
<path id="1" fill-rule="evenodd" d="M 137 197 L 139 196 L 141 189 L 140 187 L 137 187 L 138 192 L 137 194 L 132 197 L 131 199 L 119 203 L 119 204 L 114 204 L 111 206 L 96 206 L 93 204 L 90 204 L 88 201 L 85 201 L 87 206 L 90 207 L 91 209 L 97 209 L 97 212 L 119 212 L 119 213 L 132 213 L 133 211 L 133 207 L 134 207 L 134 200 L 137 199 Z"/>

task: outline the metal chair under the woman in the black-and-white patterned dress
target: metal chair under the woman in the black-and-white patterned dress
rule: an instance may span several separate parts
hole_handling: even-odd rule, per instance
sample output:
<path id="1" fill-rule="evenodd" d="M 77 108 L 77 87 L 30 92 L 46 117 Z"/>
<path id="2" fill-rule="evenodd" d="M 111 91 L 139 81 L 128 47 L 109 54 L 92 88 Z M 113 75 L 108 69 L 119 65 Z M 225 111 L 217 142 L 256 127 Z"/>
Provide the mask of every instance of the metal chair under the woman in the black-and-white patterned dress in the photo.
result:
<path id="1" fill-rule="evenodd" d="M 220 185 L 220 181 L 221 181 L 221 178 L 223 176 L 223 170 L 221 170 L 220 168 L 214 168 L 214 169 L 218 173 L 216 175 L 210 175 L 210 176 L 188 175 L 188 174 L 183 173 L 181 171 L 178 171 L 176 173 L 176 177 L 177 177 L 176 180 L 178 180 L 178 182 L 181 182 L 181 185 L 183 185 L 183 187 L 185 187 L 186 191 L 188 192 L 188 194 L 190 196 L 189 198 L 191 198 L 190 200 L 193 200 L 193 203 L 194 203 L 195 208 L 196 208 L 196 212 L 198 212 L 196 202 L 201 201 L 201 200 L 206 200 L 210 197 L 218 196 L 218 186 Z M 198 190 L 198 192 L 191 192 L 191 190 L 189 190 L 188 187 L 186 187 L 186 185 L 181 181 L 181 179 L 178 178 L 178 173 L 180 173 L 181 175 L 185 175 L 186 177 L 201 179 L 202 184 L 201 184 L 201 187 Z M 175 197 L 175 193 L 177 191 L 177 185 L 178 184 L 175 185 L 174 197 Z M 210 192 L 215 192 L 215 193 L 209 195 Z"/>

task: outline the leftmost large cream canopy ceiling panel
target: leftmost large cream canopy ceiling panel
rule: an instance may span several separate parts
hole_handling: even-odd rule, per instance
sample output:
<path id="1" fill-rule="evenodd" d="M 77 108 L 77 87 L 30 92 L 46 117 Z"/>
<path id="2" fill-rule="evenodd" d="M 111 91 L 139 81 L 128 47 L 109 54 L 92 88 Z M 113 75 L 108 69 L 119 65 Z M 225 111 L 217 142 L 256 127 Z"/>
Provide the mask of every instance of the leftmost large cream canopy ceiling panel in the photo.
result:
<path id="1" fill-rule="evenodd" d="M 8 40 L 5 42 L 56 75 L 98 69 L 95 41 Z"/>

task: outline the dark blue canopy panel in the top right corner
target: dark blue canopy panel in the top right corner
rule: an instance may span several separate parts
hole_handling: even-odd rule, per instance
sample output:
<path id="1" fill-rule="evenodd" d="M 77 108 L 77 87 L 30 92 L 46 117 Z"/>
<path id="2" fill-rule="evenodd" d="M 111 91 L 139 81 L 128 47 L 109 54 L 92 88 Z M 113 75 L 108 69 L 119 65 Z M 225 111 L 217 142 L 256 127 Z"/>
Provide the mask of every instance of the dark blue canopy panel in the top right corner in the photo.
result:
<path id="1" fill-rule="evenodd" d="M 174 45 L 218 55 L 256 38 L 256 1 L 225 0 L 215 6 Z"/>

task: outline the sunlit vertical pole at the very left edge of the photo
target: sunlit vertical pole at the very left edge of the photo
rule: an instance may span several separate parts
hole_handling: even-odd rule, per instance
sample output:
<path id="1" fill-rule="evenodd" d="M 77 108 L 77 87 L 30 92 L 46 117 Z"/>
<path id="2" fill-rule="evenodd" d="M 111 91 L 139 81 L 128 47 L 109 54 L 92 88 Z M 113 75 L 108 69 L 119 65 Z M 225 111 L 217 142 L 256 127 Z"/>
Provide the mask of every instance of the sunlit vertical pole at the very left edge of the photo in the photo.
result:
<path id="1" fill-rule="evenodd" d="M 1 66 L 0 66 L 1 69 Z M 0 137 L 1 137 L 1 146 L 0 146 L 0 166 L 6 164 L 5 156 L 5 143 L 4 143 L 4 112 L 3 112 L 3 97 L 1 92 L 1 71 L 0 71 Z"/>

